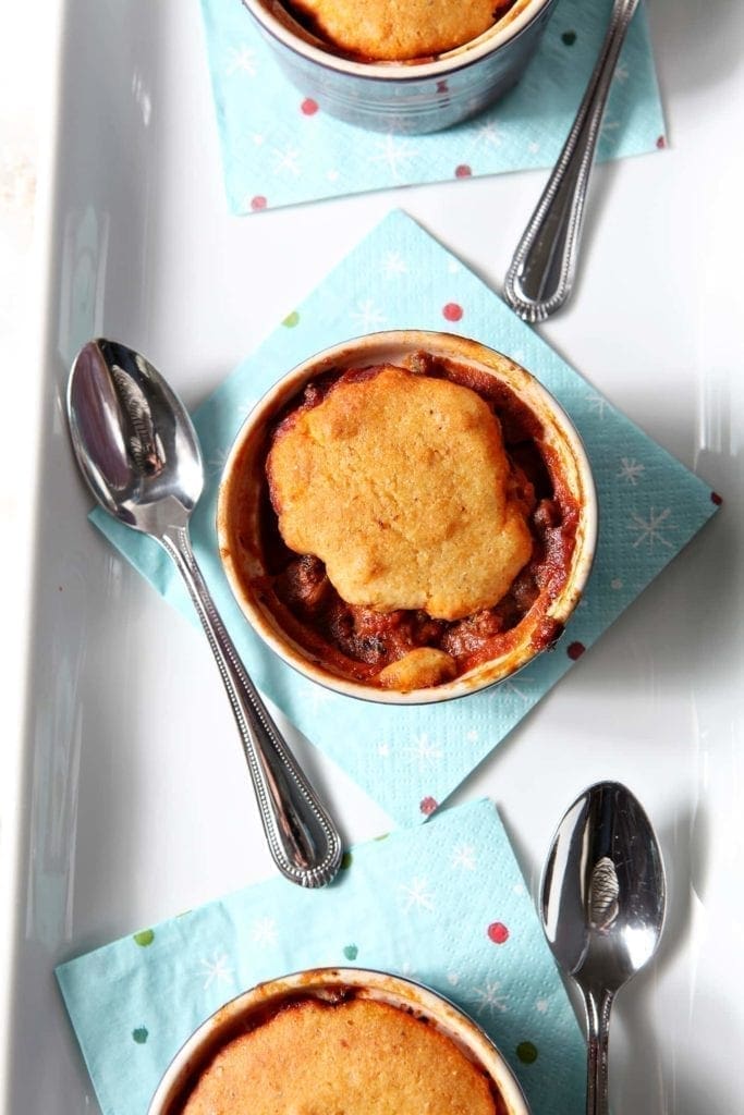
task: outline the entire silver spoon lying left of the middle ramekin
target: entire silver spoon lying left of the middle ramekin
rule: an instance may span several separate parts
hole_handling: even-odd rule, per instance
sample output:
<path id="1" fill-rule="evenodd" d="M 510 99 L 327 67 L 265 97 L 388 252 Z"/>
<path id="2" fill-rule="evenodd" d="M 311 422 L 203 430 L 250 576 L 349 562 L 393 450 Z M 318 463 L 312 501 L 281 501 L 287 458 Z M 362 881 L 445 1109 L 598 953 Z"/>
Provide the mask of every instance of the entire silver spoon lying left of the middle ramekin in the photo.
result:
<path id="1" fill-rule="evenodd" d="M 143 356 L 104 339 L 70 372 L 67 410 L 78 465 L 98 503 L 155 539 L 186 582 L 228 690 L 273 860 L 302 886 L 339 869 L 341 840 L 290 754 L 212 602 L 189 539 L 204 474 L 183 405 Z"/>

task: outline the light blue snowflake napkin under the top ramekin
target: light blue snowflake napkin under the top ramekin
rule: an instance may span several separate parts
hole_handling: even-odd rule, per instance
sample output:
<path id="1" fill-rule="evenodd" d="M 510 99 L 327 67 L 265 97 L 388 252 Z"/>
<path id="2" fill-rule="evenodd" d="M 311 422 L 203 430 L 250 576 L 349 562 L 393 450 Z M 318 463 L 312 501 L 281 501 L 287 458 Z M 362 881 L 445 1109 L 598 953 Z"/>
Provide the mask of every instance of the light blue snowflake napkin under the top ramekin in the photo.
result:
<path id="1" fill-rule="evenodd" d="M 610 0 L 559 0 L 519 86 L 485 114 L 427 136 L 383 135 L 317 110 L 278 69 L 240 0 L 202 0 L 228 202 L 233 213 L 389 186 L 552 166 L 589 79 Z M 598 157 L 663 147 L 645 10 L 636 13 Z"/>

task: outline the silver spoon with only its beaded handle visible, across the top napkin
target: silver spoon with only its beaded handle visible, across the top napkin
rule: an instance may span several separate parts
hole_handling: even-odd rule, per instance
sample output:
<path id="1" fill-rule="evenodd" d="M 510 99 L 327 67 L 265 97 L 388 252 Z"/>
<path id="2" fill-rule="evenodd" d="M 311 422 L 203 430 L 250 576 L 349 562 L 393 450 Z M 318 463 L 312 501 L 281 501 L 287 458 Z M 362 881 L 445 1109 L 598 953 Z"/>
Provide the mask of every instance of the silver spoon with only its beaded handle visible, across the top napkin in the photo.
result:
<path id="1" fill-rule="evenodd" d="M 573 126 L 504 280 L 524 321 L 544 321 L 571 293 L 584 201 L 620 48 L 638 0 L 615 0 L 609 27 Z"/>

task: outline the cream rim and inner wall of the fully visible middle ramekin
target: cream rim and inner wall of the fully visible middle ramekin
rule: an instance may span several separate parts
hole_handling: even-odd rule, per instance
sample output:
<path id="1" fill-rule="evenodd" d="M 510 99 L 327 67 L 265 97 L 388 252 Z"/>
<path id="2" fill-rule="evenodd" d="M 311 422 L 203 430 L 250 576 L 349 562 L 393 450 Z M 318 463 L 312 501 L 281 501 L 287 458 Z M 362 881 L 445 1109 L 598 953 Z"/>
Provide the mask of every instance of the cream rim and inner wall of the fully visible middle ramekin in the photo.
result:
<path id="1" fill-rule="evenodd" d="M 530 407 L 542 424 L 543 440 L 552 450 L 580 514 L 564 585 L 544 615 L 535 615 L 534 622 L 529 622 L 528 613 L 520 623 L 519 640 L 506 653 L 482 662 L 452 681 L 399 691 L 377 688 L 334 672 L 319 656 L 282 629 L 254 585 L 267 572 L 261 508 L 265 497 L 265 452 L 278 416 L 291 400 L 301 397 L 310 380 L 323 374 L 336 369 L 395 365 L 421 351 L 472 366 L 495 377 Z M 544 649 L 544 646 L 535 649 L 539 623 L 549 623 L 554 629 L 554 639 L 558 638 L 581 599 L 591 571 L 597 522 L 597 493 L 583 444 L 571 419 L 547 388 L 520 365 L 477 341 L 451 333 L 409 329 L 369 333 L 326 349 L 288 372 L 263 396 L 247 418 L 229 454 L 220 485 L 216 529 L 222 565 L 243 614 L 284 662 L 345 696 L 386 705 L 424 705 L 476 692 L 513 675 Z"/>

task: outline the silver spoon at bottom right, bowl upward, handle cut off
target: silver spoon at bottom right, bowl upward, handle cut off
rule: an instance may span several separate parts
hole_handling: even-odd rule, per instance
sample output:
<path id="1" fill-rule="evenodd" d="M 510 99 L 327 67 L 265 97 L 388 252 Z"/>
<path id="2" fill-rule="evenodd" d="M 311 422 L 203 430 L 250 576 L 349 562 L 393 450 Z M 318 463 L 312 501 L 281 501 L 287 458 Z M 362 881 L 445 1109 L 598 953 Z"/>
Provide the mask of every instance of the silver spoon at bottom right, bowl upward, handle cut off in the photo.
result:
<path id="1" fill-rule="evenodd" d="M 629 789 L 600 782 L 577 798 L 553 837 L 541 892 L 550 947 L 583 995 L 587 1115 L 608 1115 L 610 1009 L 654 956 L 666 902 L 658 842 Z"/>

